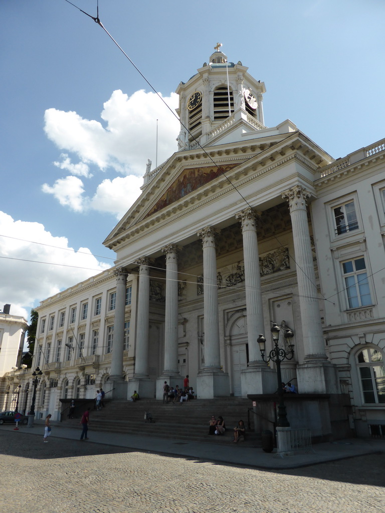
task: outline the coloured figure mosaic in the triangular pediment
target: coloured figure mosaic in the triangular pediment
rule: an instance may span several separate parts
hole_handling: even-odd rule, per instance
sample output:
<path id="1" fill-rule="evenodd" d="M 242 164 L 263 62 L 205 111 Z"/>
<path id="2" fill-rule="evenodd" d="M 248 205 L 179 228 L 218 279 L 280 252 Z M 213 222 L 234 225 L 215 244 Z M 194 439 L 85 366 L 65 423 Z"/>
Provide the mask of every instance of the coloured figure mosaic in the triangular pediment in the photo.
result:
<path id="1" fill-rule="evenodd" d="M 217 176 L 222 173 L 226 173 L 230 169 L 238 166 L 238 164 L 226 164 L 224 166 L 204 166 L 204 167 L 193 167 L 185 169 L 178 177 L 178 179 L 170 185 L 167 191 L 163 194 L 162 198 L 158 200 L 155 206 L 148 212 L 146 218 L 159 212 L 165 207 L 168 207 L 172 203 L 177 202 L 181 198 L 184 198 L 191 192 L 196 191 L 203 185 L 215 180 Z"/>

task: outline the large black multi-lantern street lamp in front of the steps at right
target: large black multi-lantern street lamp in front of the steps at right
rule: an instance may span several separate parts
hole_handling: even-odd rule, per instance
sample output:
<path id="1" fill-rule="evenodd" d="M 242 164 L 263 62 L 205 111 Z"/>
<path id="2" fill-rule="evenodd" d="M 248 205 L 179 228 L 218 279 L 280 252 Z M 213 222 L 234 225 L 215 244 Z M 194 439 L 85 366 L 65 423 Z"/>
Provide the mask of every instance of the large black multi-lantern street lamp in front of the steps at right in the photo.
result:
<path id="1" fill-rule="evenodd" d="M 265 360 L 265 343 L 266 339 L 261 334 L 257 342 L 259 344 L 259 348 L 262 354 L 262 360 L 264 362 L 273 361 L 277 366 L 277 382 L 278 382 L 278 397 L 279 397 L 279 403 L 278 403 L 278 419 L 277 419 L 277 427 L 290 427 L 290 424 L 287 420 L 286 415 L 286 406 L 283 401 L 283 395 L 284 391 L 282 388 L 282 377 L 281 377 L 281 362 L 283 360 L 291 360 L 294 356 L 294 345 L 293 344 L 287 344 L 288 351 L 285 351 L 282 347 L 278 347 L 278 339 L 279 339 L 279 332 L 281 331 L 281 328 L 276 324 L 273 323 L 273 327 L 270 330 L 273 335 L 274 340 L 274 348 L 268 353 L 268 356 Z M 290 341 L 292 337 L 294 337 L 294 333 L 290 328 L 285 329 L 284 337 L 286 341 Z"/>

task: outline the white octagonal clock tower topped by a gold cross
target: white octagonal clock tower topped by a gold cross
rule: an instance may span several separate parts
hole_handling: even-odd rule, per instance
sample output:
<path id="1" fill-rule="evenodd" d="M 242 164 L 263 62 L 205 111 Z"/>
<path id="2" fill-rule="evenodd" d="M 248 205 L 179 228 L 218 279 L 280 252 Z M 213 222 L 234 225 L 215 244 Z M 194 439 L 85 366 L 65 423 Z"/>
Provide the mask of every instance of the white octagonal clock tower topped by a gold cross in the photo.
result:
<path id="1" fill-rule="evenodd" d="M 240 141 L 242 134 L 266 128 L 264 83 L 249 75 L 240 61 L 228 62 L 220 46 L 215 47 L 209 63 L 176 90 L 181 120 L 179 151 Z"/>

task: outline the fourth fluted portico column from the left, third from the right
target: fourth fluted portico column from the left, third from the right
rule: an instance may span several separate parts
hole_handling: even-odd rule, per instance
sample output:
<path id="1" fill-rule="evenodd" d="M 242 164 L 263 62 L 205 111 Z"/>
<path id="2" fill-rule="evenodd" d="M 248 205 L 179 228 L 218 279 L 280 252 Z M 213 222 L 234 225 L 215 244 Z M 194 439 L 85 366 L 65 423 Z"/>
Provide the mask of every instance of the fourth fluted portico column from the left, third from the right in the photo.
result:
<path id="1" fill-rule="evenodd" d="M 219 346 L 217 255 L 215 238 L 217 232 L 207 226 L 198 233 L 203 243 L 203 290 L 204 290 L 204 361 L 205 369 L 221 367 Z"/>

